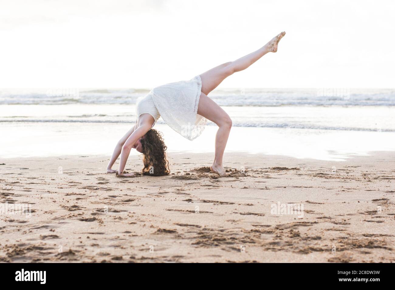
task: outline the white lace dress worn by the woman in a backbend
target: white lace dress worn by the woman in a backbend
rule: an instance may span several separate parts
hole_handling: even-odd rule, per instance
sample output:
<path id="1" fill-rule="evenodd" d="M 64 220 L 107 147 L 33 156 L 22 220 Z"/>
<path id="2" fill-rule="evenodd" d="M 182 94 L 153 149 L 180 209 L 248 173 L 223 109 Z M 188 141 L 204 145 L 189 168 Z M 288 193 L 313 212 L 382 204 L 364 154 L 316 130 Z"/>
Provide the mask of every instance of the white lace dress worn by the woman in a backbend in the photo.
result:
<path id="1" fill-rule="evenodd" d="M 203 132 L 207 123 L 207 119 L 198 114 L 200 94 L 200 75 L 191 80 L 158 86 L 137 101 L 137 120 L 141 114 L 150 114 L 156 123 L 162 116 L 174 131 L 188 140 L 194 140 Z"/>

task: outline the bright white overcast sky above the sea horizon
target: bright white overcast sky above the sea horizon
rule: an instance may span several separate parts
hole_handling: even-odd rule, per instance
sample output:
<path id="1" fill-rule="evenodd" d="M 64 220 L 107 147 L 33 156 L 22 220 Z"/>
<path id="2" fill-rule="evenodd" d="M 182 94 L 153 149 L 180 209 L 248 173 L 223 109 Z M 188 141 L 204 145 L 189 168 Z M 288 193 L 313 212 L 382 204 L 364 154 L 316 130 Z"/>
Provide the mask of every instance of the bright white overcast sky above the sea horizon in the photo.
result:
<path id="1" fill-rule="evenodd" d="M 286 31 L 225 88 L 393 88 L 395 2 L 0 0 L 0 88 L 152 88 Z"/>

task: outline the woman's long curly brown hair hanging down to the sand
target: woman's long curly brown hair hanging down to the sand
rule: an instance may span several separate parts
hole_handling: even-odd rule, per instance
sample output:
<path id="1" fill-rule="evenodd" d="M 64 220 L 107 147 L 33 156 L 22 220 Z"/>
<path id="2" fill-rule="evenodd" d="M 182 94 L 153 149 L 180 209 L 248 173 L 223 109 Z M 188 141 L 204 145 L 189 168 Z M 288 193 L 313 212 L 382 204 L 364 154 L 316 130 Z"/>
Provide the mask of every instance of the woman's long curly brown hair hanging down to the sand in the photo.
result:
<path id="1" fill-rule="evenodd" d="M 169 175 L 169 161 L 166 158 L 167 146 L 162 133 L 150 129 L 140 140 L 143 146 L 143 175 L 162 176 Z"/>

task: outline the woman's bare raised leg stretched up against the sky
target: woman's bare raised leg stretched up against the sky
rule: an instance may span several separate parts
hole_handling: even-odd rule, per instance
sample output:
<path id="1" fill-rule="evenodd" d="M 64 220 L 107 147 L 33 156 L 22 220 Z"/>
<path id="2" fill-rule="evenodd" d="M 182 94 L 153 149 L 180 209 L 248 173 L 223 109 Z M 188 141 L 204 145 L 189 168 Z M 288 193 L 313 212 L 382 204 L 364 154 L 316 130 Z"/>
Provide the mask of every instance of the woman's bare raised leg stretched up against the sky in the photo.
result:
<path id="1" fill-rule="evenodd" d="M 202 82 L 201 91 L 208 95 L 224 79 L 229 77 L 229 75 L 246 69 L 268 52 L 276 52 L 278 42 L 284 35 L 285 32 L 281 32 L 257 51 L 251 52 L 250 54 L 234 60 L 233 62 L 226 62 L 225 64 L 218 65 L 205 73 L 202 73 L 200 75 Z"/>

